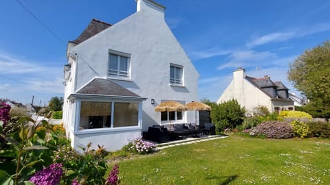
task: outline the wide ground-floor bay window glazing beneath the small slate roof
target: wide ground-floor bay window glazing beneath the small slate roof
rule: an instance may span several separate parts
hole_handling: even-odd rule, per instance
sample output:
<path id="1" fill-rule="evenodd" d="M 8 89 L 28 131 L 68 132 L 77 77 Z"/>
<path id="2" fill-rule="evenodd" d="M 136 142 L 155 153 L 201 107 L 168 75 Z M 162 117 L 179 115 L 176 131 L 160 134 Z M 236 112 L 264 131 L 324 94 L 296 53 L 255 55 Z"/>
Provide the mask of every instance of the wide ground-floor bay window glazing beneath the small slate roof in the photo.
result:
<path id="1" fill-rule="evenodd" d="M 139 103 L 82 101 L 79 130 L 138 125 Z"/>

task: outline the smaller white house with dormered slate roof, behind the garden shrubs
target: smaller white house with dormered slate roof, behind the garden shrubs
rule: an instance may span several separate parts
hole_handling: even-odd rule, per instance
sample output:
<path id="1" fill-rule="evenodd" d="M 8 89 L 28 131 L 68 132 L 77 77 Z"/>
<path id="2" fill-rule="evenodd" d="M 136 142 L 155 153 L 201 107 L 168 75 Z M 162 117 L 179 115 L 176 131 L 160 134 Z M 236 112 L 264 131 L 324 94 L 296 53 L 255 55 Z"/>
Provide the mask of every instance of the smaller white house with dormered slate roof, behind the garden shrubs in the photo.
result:
<path id="1" fill-rule="evenodd" d="M 217 103 L 236 99 L 246 110 L 256 106 L 266 106 L 271 112 L 294 110 L 294 101 L 289 99 L 289 89 L 282 82 L 273 82 L 265 75 L 254 78 L 245 75 L 245 69 L 233 72 L 233 79 L 222 93 Z"/>

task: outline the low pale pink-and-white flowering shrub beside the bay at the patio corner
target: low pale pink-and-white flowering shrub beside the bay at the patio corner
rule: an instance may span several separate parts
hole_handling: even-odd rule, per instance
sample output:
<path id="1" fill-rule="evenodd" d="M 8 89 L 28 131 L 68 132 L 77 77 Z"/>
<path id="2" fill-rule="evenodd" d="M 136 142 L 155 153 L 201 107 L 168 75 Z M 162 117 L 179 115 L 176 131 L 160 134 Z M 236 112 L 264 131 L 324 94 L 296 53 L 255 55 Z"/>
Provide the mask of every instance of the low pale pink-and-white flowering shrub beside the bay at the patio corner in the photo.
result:
<path id="1" fill-rule="evenodd" d="M 148 141 L 142 140 L 141 137 L 138 137 L 135 138 L 135 140 L 130 141 L 129 144 L 127 144 L 124 148 L 126 148 L 127 151 L 131 151 L 133 153 L 148 154 L 153 153 L 155 145 Z"/>

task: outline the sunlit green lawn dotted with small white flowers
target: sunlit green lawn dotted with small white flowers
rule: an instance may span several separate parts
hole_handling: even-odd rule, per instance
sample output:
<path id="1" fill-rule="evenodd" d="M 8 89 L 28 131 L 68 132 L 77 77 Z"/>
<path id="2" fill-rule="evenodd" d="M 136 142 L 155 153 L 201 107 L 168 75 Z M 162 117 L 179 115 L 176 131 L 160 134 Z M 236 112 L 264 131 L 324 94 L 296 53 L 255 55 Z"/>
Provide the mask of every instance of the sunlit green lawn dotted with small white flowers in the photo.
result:
<path id="1" fill-rule="evenodd" d="M 121 184 L 330 184 L 330 140 L 230 136 L 118 164 Z"/>

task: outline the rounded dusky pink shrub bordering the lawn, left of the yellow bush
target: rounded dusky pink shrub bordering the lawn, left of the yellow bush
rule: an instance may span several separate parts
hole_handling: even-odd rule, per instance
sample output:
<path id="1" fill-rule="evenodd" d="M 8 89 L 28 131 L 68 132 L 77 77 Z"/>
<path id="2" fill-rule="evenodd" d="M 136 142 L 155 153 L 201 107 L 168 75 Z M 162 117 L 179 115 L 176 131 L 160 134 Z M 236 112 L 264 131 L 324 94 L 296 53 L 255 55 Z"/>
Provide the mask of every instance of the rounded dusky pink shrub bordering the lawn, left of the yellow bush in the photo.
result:
<path id="1" fill-rule="evenodd" d="M 281 121 L 265 121 L 256 126 L 259 135 L 263 134 L 267 138 L 291 138 L 292 127 L 289 123 Z"/>

